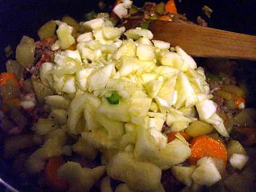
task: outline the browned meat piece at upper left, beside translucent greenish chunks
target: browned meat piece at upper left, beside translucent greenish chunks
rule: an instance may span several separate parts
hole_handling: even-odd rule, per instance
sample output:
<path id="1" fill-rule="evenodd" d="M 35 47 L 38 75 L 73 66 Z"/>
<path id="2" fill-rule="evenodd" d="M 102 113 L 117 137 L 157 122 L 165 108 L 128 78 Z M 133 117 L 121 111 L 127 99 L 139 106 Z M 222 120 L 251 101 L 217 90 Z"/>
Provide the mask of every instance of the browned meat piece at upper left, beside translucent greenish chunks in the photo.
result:
<path id="1" fill-rule="evenodd" d="M 41 65 L 44 62 L 51 62 L 54 58 L 54 51 L 52 51 L 52 45 L 55 40 L 52 38 L 43 39 L 41 41 L 36 42 L 36 58 L 38 58 L 38 62 L 35 66 L 29 69 L 30 73 L 35 73 L 36 70 L 39 70 Z"/>

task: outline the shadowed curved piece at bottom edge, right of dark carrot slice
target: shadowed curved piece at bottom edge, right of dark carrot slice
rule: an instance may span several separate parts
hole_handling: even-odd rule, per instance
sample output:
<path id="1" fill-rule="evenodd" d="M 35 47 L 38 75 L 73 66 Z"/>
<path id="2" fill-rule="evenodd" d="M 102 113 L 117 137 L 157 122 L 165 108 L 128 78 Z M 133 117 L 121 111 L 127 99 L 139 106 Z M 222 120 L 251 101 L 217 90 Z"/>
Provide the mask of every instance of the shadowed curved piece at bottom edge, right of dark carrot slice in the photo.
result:
<path id="1" fill-rule="evenodd" d="M 77 192 L 89 191 L 105 172 L 105 166 L 83 169 L 79 163 L 67 162 L 58 169 L 58 177 L 64 178 Z"/>

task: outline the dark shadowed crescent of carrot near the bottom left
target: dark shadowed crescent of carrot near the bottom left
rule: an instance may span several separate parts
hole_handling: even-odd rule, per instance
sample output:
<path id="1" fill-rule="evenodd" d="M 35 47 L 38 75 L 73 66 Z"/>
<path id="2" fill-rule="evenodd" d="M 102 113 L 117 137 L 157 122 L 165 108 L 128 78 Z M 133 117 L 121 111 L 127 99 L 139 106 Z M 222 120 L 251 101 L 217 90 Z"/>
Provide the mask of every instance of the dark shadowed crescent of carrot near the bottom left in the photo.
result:
<path id="1" fill-rule="evenodd" d="M 64 163 L 64 160 L 60 157 L 51 158 L 46 163 L 46 183 L 49 187 L 52 188 L 52 190 L 64 191 L 68 189 L 68 182 L 58 177 L 57 175 L 58 168 L 60 168 L 60 166 Z"/>

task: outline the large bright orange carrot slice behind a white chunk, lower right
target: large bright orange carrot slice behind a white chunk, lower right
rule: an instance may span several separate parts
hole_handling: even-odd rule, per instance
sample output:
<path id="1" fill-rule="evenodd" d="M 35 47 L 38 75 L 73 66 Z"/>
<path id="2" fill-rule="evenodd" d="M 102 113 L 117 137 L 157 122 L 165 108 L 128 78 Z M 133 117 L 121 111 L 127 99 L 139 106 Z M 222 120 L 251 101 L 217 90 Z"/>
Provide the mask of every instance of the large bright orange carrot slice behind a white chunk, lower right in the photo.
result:
<path id="1" fill-rule="evenodd" d="M 227 149 L 223 143 L 207 135 L 194 137 L 191 141 L 189 162 L 196 165 L 196 162 L 205 156 L 221 159 L 226 165 Z"/>

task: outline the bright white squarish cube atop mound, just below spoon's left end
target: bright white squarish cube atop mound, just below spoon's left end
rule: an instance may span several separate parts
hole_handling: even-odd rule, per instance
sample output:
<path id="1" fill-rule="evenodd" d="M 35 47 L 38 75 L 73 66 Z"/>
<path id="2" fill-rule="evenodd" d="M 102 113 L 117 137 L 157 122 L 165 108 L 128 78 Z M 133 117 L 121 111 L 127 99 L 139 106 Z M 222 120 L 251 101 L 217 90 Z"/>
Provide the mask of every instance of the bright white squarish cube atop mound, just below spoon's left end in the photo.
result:
<path id="1" fill-rule="evenodd" d="M 136 55 L 141 61 L 152 61 L 155 58 L 154 50 L 150 45 L 138 45 Z"/>

